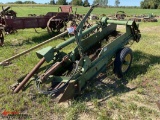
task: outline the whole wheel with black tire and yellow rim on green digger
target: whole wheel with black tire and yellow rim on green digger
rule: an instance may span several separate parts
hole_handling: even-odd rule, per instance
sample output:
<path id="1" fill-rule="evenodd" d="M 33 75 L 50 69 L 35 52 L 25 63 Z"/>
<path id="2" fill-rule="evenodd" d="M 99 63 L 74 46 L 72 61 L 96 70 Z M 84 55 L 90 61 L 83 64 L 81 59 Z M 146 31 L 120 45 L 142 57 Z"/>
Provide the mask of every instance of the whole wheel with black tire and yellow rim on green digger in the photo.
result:
<path id="1" fill-rule="evenodd" d="M 128 47 L 123 48 L 116 54 L 114 61 L 114 73 L 118 78 L 129 70 L 132 63 L 132 50 Z"/>

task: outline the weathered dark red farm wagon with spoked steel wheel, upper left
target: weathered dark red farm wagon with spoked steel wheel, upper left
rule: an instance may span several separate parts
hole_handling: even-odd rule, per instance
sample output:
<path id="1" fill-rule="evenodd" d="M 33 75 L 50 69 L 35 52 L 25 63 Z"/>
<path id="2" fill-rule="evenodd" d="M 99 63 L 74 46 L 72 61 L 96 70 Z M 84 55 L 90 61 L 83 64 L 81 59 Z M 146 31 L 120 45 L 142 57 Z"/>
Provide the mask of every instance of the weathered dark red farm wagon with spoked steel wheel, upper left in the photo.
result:
<path id="1" fill-rule="evenodd" d="M 76 12 L 75 12 L 76 13 Z M 16 12 L 10 10 L 10 7 L 2 7 L 0 11 L 0 45 L 4 43 L 3 32 L 9 34 L 17 29 L 26 28 L 46 28 L 49 32 L 60 31 L 66 26 L 68 21 L 73 20 L 72 6 L 60 6 L 58 12 L 48 12 L 46 15 L 30 15 L 28 17 L 16 17 Z"/>

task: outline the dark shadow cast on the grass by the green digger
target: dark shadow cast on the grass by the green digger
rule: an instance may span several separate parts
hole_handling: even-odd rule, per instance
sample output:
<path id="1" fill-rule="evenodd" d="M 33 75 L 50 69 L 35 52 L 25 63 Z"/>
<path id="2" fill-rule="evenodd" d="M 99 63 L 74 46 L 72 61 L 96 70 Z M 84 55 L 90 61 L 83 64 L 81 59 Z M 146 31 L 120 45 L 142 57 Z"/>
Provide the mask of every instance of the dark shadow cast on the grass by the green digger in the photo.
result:
<path id="1" fill-rule="evenodd" d="M 123 78 L 118 79 L 114 75 L 102 74 L 100 77 L 88 81 L 82 95 L 76 97 L 75 100 L 91 101 L 92 98 L 96 98 L 104 101 L 118 94 L 135 90 L 136 87 L 129 88 L 126 86 L 128 78 L 133 80 L 138 75 L 145 74 L 150 65 L 160 63 L 160 56 L 142 53 L 141 51 L 134 51 L 133 56 L 132 66 Z"/>

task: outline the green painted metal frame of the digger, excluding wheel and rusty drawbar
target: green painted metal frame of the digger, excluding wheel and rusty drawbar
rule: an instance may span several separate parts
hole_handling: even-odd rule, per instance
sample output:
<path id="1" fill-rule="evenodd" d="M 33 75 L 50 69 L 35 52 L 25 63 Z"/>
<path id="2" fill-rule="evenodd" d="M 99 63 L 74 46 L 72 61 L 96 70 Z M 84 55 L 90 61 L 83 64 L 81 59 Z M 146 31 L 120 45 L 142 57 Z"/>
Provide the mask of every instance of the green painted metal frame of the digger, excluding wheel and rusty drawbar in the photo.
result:
<path id="1" fill-rule="evenodd" d="M 130 40 L 138 42 L 141 37 L 138 25 L 134 21 L 109 20 L 106 17 L 103 17 L 92 27 L 82 31 L 83 23 L 86 21 L 94 7 L 95 6 L 91 7 L 84 19 L 77 27 L 76 31 L 74 32 L 75 36 L 69 38 L 68 40 L 55 47 L 49 46 L 36 52 L 38 58 L 43 58 L 46 62 L 52 61 L 53 64 L 60 62 L 60 60 L 62 60 L 65 56 L 67 56 L 69 59 L 68 63 L 66 63 L 66 66 L 72 64 L 73 62 L 75 63 L 78 60 L 78 69 L 75 74 L 72 75 L 72 77 L 49 75 L 48 79 L 45 81 L 41 81 L 40 78 L 37 80 L 41 81 L 42 83 L 50 83 L 53 81 L 64 83 L 69 82 L 60 101 L 64 101 L 74 96 L 77 91 L 81 91 L 86 81 L 94 78 L 100 72 L 107 70 L 107 65 L 112 61 L 112 58 L 115 57 L 116 53 L 121 48 L 127 45 Z M 112 32 L 116 31 L 117 24 L 125 25 L 126 32 L 113 40 L 111 43 L 106 44 L 103 48 L 101 48 L 98 57 L 94 60 L 91 60 L 89 56 L 87 56 L 86 52 L 92 48 L 92 46 L 101 42 L 106 36 L 109 36 Z M 95 30 L 97 31 L 93 33 Z M 83 38 L 87 34 L 91 35 Z M 60 52 L 62 48 L 67 47 L 73 42 L 77 43 L 77 46 L 73 51 L 68 54 Z M 79 56 L 79 59 L 77 56 Z M 58 70 L 60 71 L 61 68 Z"/>

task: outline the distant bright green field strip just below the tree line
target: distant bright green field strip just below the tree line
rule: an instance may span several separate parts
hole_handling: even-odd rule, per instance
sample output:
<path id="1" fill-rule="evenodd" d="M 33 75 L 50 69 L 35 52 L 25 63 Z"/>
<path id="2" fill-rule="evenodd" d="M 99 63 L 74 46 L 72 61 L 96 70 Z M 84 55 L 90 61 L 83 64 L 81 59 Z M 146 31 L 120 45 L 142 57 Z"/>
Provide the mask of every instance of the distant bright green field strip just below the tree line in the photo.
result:
<path id="1" fill-rule="evenodd" d="M 7 6 L 1 5 L 1 6 Z M 12 10 L 17 12 L 18 16 L 27 16 L 28 14 L 42 15 L 47 12 L 58 12 L 58 5 L 8 5 Z M 77 9 L 78 14 L 86 14 L 89 7 L 73 6 L 73 12 Z M 102 12 L 103 11 L 103 12 Z M 117 11 L 124 11 L 127 15 L 142 15 L 151 14 L 159 16 L 159 9 L 137 9 L 137 8 L 96 8 L 93 10 L 93 14 L 101 15 L 114 15 Z"/>

